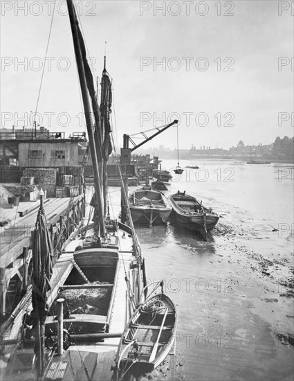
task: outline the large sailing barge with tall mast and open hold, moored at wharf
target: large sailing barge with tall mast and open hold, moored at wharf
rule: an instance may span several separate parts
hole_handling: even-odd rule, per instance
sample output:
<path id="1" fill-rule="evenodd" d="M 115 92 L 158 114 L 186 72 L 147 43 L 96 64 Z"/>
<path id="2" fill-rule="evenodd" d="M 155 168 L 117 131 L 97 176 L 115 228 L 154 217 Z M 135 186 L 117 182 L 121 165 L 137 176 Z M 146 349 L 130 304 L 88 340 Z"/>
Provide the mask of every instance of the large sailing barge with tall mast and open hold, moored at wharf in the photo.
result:
<path id="1" fill-rule="evenodd" d="M 43 275 L 40 285 L 34 283 L 39 299 L 33 294 L 33 312 L 26 314 L 19 337 L 2 342 L 14 345 L 5 380 L 110 380 L 120 336 L 146 285 L 131 218 L 127 226 L 111 220 L 107 209 L 111 81 L 104 62 L 99 107 L 72 0 L 67 5 L 94 172 L 93 222 L 72 234 L 52 275 L 49 254 L 49 270 L 36 270 Z M 127 204 L 123 187 L 122 197 Z M 42 258 L 42 250 L 35 256 Z"/>

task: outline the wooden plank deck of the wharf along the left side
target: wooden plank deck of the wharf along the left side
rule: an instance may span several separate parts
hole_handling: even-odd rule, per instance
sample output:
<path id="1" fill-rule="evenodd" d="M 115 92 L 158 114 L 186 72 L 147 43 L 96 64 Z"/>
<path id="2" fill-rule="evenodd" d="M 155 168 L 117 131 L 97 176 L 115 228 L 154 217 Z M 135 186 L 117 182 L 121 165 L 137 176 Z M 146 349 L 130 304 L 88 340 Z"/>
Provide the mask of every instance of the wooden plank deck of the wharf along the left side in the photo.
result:
<path id="1" fill-rule="evenodd" d="M 85 197 L 52 198 L 44 202 L 48 229 L 53 241 L 53 249 L 59 256 L 61 247 L 84 217 Z M 17 209 L 11 209 L 10 219 L 13 222 L 0 228 L 0 278 L 1 278 L 1 315 L 11 314 L 19 298 L 17 294 L 26 295 L 29 291 L 28 267 L 32 257 L 31 236 L 35 229 L 37 202 L 28 207 L 28 203 L 19 204 L 19 211 L 28 213 L 21 217 Z M 33 203 L 30 203 L 33 204 Z M 7 210 L 6 210 L 7 215 Z M 57 259 L 57 258 L 56 258 Z M 25 297 L 24 296 L 24 297 Z M 1 326 L 2 328 L 2 326 Z"/>

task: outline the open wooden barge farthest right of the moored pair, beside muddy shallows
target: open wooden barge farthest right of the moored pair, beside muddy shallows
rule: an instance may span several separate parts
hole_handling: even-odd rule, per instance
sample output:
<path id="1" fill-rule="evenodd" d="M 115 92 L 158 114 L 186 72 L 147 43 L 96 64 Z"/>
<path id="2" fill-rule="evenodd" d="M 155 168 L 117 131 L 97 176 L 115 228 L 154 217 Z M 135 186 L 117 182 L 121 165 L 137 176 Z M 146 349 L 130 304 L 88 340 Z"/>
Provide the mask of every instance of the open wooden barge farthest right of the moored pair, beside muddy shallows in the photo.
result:
<path id="1" fill-rule="evenodd" d="M 206 240 L 208 231 L 215 227 L 219 215 L 185 192 L 178 191 L 169 196 L 169 201 L 172 204 L 172 218 L 175 222 L 180 227 L 200 233 Z"/>

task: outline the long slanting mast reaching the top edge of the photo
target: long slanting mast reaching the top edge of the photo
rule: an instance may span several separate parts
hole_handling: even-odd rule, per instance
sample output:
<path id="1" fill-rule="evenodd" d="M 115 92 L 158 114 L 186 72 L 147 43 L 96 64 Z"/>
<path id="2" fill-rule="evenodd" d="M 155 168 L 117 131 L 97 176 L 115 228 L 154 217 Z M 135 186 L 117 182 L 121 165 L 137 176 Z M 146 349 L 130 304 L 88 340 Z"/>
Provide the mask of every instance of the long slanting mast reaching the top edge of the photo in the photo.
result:
<path id="1" fill-rule="evenodd" d="M 75 48 L 75 60 L 77 62 L 77 71 L 79 73 L 79 78 L 80 78 L 80 87 L 82 91 L 82 100 L 84 104 L 84 114 L 86 118 L 86 129 L 87 129 L 88 137 L 89 137 L 89 145 L 90 145 L 91 159 L 92 159 L 93 172 L 94 172 L 94 186 L 96 191 L 99 222 L 100 222 L 100 226 L 98 227 L 98 234 L 101 234 L 102 236 L 104 236 L 105 224 L 104 224 L 102 191 L 100 188 L 100 184 L 101 184 L 100 172 L 98 170 L 98 155 L 95 148 L 93 126 L 91 121 L 91 107 L 89 103 L 89 94 L 88 94 L 88 89 L 86 86 L 85 69 L 84 69 L 84 63 L 82 60 L 82 51 L 80 46 L 79 33 L 77 29 L 78 23 L 77 23 L 77 18 L 75 16 L 75 8 L 73 7 L 72 0 L 66 0 L 66 3 L 68 7 L 69 19 L 71 21 L 71 33 L 73 35 L 73 46 Z"/>

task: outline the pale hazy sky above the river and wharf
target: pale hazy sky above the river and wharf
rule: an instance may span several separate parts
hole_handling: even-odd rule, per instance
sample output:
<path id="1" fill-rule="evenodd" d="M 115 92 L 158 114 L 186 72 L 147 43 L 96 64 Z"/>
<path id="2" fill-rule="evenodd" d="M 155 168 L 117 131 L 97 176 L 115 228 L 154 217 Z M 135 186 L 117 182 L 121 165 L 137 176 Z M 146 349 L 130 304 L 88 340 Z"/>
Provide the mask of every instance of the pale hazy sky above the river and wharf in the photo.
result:
<path id="1" fill-rule="evenodd" d="M 293 136 L 291 1 L 75 5 L 95 80 L 107 42 L 118 146 L 123 134 L 174 119 L 181 149 Z M 56 0 L 54 17 L 53 8 L 54 0 L 1 1 L 1 127 L 28 128 L 37 109 L 53 132 L 86 130 L 66 1 Z M 176 147 L 176 126 L 145 147 L 160 144 Z"/>

